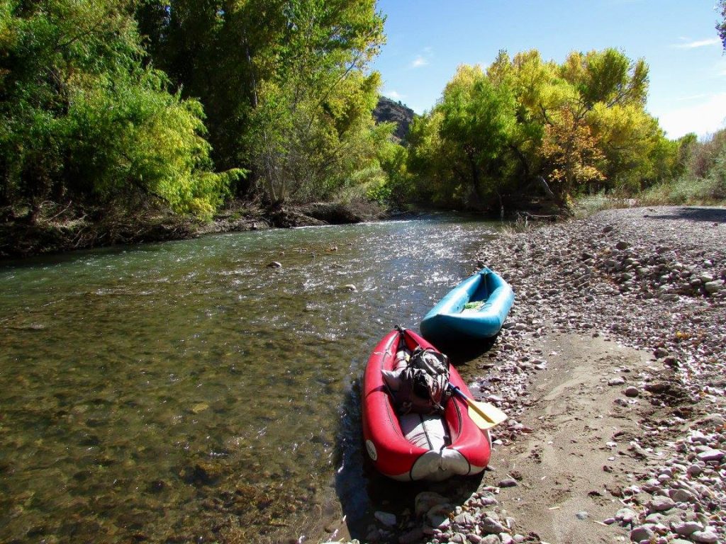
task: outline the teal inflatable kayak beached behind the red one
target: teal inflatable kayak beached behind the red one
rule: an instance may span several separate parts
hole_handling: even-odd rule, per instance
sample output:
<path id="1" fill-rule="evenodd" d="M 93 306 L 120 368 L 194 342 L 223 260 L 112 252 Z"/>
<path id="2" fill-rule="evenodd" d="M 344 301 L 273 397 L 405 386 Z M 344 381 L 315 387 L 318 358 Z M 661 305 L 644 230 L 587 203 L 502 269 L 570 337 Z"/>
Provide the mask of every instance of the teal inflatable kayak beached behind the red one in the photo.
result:
<path id="1" fill-rule="evenodd" d="M 433 345 L 497 336 L 514 303 L 501 276 L 482 268 L 449 291 L 421 321 L 422 336 Z"/>

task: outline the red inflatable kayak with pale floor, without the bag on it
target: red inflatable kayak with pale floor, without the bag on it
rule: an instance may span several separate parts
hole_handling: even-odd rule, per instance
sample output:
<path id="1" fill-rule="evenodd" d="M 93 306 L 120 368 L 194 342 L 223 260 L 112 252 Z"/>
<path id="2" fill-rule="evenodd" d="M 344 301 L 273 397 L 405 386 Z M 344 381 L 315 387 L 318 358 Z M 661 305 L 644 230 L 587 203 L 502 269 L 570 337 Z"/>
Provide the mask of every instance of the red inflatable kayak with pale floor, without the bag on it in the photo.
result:
<path id="1" fill-rule="evenodd" d="M 397 480 L 439 481 L 460 474 L 478 474 L 491 454 L 489 432 L 468 415 L 466 402 L 449 397 L 442 416 L 396 413 L 383 371 L 392 371 L 396 354 L 416 347 L 433 347 L 407 329 L 394 330 L 378 343 L 368 359 L 362 384 L 362 419 L 365 449 L 382 474 Z M 453 366 L 449 382 L 471 394 Z"/>

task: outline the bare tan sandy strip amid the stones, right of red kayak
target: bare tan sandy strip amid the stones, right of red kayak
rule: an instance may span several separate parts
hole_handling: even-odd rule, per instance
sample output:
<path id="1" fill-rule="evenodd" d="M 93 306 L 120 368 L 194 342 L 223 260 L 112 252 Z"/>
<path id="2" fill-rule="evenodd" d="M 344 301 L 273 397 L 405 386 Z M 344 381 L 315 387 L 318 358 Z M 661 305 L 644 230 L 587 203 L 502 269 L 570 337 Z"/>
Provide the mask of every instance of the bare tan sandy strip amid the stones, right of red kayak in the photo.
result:
<path id="1" fill-rule="evenodd" d="M 653 362 L 648 353 L 576 334 L 558 334 L 540 346 L 548 366 L 533 379 L 521 421 L 534 430 L 492 457 L 497 477 L 518 480 L 502 488 L 501 502 L 521 532 L 535 532 L 544 542 L 611 543 L 627 532 L 602 520 L 622 506 L 612 493 L 637 467 L 628 437 L 652 408 L 616 405 L 624 385 L 608 381 Z"/>

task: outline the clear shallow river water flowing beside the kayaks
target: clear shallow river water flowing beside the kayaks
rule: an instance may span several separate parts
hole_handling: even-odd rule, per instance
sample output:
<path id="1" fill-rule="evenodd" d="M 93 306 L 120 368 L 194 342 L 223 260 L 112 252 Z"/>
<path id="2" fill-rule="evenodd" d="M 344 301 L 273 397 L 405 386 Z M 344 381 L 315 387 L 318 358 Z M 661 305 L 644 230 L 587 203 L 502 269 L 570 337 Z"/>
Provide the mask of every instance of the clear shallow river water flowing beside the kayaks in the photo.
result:
<path id="1" fill-rule="evenodd" d="M 417 329 L 496 232 L 441 217 L 0 266 L 0 541 L 354 527 L 372 508 L 356 397 L 370 350 Z"/>

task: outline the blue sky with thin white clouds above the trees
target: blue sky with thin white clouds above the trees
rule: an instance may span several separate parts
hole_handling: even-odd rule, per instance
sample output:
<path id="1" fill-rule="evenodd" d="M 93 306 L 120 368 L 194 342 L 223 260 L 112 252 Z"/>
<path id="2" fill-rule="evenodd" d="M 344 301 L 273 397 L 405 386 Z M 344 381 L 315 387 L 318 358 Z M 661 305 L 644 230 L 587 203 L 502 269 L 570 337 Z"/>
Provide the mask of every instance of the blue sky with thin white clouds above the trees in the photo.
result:
<path id="1" fill-rule="evenodd" d="M 378 0 L 388 41 L 372 67 L 382 94 L 431 110 L 461 64 L 489 66 L 499 49 L 615 47 L 650 67 L 648 112 L 669 138 L 726 126 L 726 56 L 716 0 Z"/>

